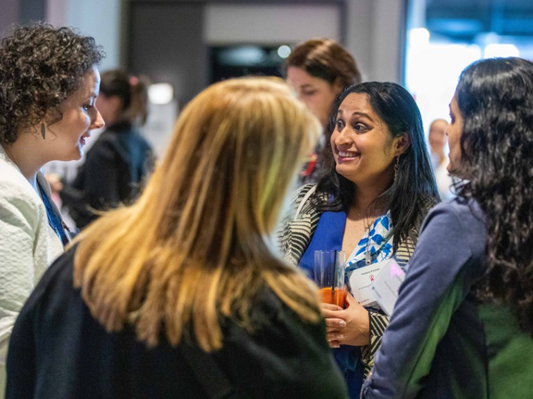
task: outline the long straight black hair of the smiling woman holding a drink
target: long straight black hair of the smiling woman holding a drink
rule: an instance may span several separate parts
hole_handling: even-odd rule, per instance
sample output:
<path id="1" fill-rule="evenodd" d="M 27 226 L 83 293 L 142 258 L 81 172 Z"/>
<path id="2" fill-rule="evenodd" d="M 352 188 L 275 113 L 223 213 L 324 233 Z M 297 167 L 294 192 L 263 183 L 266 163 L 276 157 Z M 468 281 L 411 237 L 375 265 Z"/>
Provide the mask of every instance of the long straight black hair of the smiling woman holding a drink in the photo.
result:
<path id="1" fill-rule="evenodd" d="M 373 206 L 383 207 L 391 211 L 393 220 L 393 248 L 398 249 L 401 241 L 409 238 L 416 243 L 420 227 L 428 206 L 439 202 L 437 184 L 432 172 L 428 149 L 425 144 L 422 117 L 411 94 L 400 85 L 391 82 L 365 82 L 353 85 L 344 90 L 335 100 L 330 123 L 328 125 L 328 159 L 325 161 L 325 172 L 317 192 L 328 193 L 335 197 L 335 202 L 316 204 L 320 209 L 331 211 L 347 211 L 353 204 L 354 184 L 336 170 L 335 159 L 329 138 L 335 128 L 337 111 L 346 96 L 350 94 L 366 94 L 373 111 L 387 124 L 392 137 L 409 134 L 409 148 L 400 156 L 398 174 L 375 201 Z"/>

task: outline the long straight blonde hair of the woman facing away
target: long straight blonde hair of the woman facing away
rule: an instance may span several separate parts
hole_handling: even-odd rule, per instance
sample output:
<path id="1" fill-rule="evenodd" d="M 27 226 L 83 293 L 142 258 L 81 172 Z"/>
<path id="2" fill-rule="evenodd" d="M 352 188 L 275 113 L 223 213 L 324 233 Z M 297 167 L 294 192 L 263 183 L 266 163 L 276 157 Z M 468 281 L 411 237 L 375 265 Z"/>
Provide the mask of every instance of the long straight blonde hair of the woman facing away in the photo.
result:
<path id="1" fill-rule="evenodd" d="M 93 316 L 111 331 L 133 324 L 149 346 L 194 336 L 205 351 L 222 346 L 220 316 L 253 330 L 264 288 L 318 321 L 312 284 L 268 237 L 321 130 L 282 80 L 226 80 L 198 94 L 137 203 L 83 231 L 74 285 Z"/>

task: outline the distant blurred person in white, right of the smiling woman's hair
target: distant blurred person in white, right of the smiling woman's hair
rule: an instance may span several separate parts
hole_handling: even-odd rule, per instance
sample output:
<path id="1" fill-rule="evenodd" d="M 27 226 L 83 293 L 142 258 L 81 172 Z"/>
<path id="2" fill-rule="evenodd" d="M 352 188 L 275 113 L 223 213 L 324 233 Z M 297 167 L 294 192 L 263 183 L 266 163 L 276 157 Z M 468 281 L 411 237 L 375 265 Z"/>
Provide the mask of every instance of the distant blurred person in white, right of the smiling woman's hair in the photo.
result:
<path id="1" fill-rule="evenodd" d="M 453 180 L 450 172 L 446 168 L 448 166 L 448 154 L 445 150 L 447 148 L 446 127 L 448 121 L 445 119 L 435 119 L 430 125 L 430 132 L 428 134 L 428 141 L 431 149 L 431 163 L 437 179 L 437 188 L 441 199 L 448 199 L 453 197 L 452 184 Z"/>

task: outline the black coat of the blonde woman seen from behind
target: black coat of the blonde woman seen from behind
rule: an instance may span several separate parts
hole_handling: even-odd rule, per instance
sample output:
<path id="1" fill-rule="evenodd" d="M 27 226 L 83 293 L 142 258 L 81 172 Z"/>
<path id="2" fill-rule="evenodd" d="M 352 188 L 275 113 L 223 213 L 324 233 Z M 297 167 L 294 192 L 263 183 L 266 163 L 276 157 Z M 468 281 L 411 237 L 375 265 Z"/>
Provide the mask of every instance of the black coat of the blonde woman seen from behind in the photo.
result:
<path id="1" fill-rule="evenodd" d="M 183 344 L 148 349 L 131 328 L 109 333 L 91 316 L 73 287 L 74 251 L 53 263 L 15 323 L 7 399 L 208 398 Z M 348 398 L 324 323 L 303 322 L 270 291 L 261 298 L 253 307 L 256 332 L 226 320 L 223 348 L 211 357 L 236 397 Z M 200 380 L 210 377 L 209 367 Z"/>

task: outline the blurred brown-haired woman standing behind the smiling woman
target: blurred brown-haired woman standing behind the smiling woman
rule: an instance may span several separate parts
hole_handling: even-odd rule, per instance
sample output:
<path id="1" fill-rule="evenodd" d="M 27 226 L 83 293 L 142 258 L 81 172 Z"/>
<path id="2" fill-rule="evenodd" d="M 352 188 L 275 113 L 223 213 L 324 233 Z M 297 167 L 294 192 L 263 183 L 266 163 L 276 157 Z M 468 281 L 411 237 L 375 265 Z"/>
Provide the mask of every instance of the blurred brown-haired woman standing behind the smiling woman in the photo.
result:
<path id="1" fill-rule="evenodd" d="M 311 39 L 287 57 L 287 81 L 319 118 L 325 132 L 333 101 L 345 87 L 361 82 L 361 73 L 346 49 L 332 39 Z M 300 173 L 300 183 L 316 183 L 323 169 L 326 134 Z"/>

